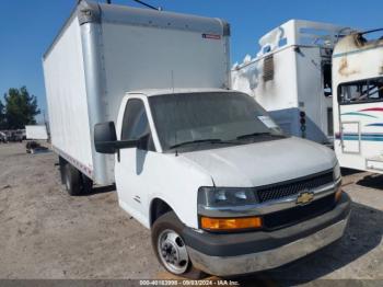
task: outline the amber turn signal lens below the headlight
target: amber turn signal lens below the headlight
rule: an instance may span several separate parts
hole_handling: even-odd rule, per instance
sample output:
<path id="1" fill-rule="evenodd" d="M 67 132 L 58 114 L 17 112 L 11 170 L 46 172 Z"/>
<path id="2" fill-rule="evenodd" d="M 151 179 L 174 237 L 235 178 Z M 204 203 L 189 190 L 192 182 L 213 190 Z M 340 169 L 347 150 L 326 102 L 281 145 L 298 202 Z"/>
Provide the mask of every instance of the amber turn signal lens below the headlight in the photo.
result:
<path id="1" fill-rule="evenodd" d="M 210 218 L 201 217 L 201 227 L 207 230 L 235 230 L 262 227 L 260 217 Z"/>

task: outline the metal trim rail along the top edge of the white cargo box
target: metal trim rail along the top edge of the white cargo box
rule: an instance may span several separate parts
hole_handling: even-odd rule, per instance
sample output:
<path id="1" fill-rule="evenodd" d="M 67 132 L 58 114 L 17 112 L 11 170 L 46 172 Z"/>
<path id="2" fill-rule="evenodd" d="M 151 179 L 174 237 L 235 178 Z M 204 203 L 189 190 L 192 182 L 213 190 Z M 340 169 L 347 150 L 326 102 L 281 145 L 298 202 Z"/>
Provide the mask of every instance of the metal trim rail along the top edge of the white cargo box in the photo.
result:
<path id="1" fill-rule="evenodd" d="M 43 59 L 47 57 L 71 20 L 76 16 L 79 19 L 80 25 L 85 23 L 114 23 L 167 30 L 193 31 L 222 36 L 230 35 L 230 24 L 227 21 L 218 18 L 197 16 L 81 0 L 74 7 L 71 15 L 65 22 L 58 35 L 44 54 Z"/>

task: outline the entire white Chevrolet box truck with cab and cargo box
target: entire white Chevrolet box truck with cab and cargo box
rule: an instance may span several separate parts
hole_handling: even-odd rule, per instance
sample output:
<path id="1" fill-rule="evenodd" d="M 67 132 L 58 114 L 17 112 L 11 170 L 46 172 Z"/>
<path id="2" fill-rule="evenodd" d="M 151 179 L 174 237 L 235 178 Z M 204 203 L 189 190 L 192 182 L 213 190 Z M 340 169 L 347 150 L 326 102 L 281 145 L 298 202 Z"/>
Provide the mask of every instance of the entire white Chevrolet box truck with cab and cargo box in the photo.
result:
<path id="1" fill-rule="evenodd" d="M 334 152 L 229 90 L 229 32 L 81 1 L 44 56 L 69 193 L 115 182 L 161 264 L 193 278 L 280 266 L 341 238 L 349 217 Z"/>

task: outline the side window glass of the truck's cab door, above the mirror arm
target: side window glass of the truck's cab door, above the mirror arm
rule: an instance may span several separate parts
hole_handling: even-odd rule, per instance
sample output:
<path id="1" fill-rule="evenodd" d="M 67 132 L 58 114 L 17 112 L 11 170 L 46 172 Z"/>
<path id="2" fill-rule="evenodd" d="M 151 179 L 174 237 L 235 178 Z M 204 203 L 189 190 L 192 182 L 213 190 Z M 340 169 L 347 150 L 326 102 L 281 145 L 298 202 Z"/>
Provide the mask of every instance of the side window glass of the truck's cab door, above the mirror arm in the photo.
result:
<path id="1" fill-rule="evenodd" d="M 147 112 L 139 99 L 128 100 L 124 113 L 121 140 L 137 140 L 143 138 L 140 149 L 154 151 Z"/>

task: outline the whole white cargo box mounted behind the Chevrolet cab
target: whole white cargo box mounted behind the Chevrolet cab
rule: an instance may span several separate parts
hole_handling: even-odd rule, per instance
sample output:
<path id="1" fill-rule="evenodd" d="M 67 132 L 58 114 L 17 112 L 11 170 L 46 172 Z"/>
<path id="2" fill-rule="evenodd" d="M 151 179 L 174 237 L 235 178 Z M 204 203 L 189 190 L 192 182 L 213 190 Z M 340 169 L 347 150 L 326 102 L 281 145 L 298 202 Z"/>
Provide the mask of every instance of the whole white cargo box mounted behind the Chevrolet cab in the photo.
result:
<path id="1" fill-rule="evenodd" d="M 220 19 L 81 1 L 43 59 L 61 162 L 114 183 L 114 157 L 95 152 L 94 125 L 116 120 L 129 91 L 229 88 L 229 33 Z"/>

